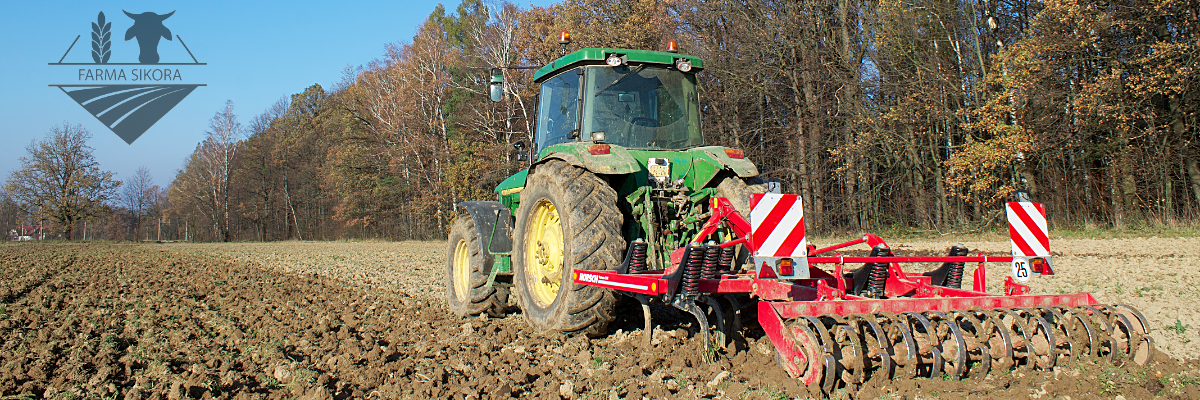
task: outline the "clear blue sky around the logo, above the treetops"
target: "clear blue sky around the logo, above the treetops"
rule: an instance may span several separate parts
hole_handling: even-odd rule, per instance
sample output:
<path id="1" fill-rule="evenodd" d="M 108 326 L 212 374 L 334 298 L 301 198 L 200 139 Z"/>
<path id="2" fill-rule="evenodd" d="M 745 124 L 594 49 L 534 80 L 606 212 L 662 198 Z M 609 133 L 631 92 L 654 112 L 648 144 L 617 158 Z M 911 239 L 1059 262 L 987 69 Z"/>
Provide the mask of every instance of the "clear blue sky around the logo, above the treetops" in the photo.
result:
<path id="1" fill-rule="evenodd" d="M 101 168 L 118 179 L 150 168 L 166 186 L 204 137 L 209 119 L 233 100 L 244 125 L 275 101 L 317 83 L 330 88 L 347 67 L 383 56 L 388 43 L 409 42 L 438 4 L 460 1 L 2 1 L 0 16 L 0 180 L 20 167 L 25 147 L 55 125 L 91 131 Z M 518 0 L 546 6 L 552 0 Z M 125 41 L 131 13 L 175 13 L 163 22 L 206 66 L 179 66 L 182 82 L 204 83 L 133 144 L 126 144 L 71 97 L 49 84 L 79 84 L 82 66 L 52 66 L 77 35 L 62 62 L 91 62 L 90 23 L 104 12 L 113 28 L 109 62 L 137 62 L 136 40 Z M 179 41 L 158 44 L 161 62 L 190 62 Z M 126 66 L 131 68 L 144 66 Z M 163 82 L 167 83 L 167 82 Z"/>

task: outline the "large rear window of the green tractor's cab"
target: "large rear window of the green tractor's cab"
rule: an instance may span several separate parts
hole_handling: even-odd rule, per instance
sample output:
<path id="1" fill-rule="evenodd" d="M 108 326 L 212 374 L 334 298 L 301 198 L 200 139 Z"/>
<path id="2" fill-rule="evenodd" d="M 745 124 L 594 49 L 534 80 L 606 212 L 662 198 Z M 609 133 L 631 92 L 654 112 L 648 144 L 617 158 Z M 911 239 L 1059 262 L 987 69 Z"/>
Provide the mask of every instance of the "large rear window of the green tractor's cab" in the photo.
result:
<path id="1" fill-rule="evenodd" d="M 703 144 L 696 76 L 658 67 L 588 68 L 583 138 L 635 149 L 685 149 Z M 589 136 L 590 135 L 590 136 Z"/>

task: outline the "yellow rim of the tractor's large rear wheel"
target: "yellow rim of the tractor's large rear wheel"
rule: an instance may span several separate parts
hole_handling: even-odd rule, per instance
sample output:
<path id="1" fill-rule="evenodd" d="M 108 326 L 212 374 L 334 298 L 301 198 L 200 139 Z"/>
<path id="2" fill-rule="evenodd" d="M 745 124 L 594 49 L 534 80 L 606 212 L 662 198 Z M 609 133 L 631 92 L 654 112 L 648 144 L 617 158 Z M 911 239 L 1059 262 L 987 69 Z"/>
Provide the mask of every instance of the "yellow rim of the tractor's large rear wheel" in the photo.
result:
<path id="1" fill-rule="evenodd" d="M 563 279 L 563 221 L 550 201 L 541 199 L 530 213 L 524 237 L 527 285 L 542 308 L 558 298 Z"/>

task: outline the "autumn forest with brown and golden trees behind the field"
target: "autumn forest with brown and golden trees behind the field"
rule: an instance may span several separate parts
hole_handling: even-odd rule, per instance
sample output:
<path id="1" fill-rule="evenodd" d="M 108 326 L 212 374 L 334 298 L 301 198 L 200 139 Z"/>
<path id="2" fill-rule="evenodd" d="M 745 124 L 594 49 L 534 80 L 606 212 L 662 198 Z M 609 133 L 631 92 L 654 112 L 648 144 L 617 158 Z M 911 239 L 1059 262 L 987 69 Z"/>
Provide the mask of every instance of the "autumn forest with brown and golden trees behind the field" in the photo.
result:
<path id="1" fill-rule="evenodd" d="M 701 56 L 706 141 L 803 195 L 812 232 L 995 228 L 1016 190 L 1056 228 L 1200 219 L 1196 0 L 467 0 L 331 88 L 250 118 L 227 103 L 168 187 L 139 171 L 50 219 L 14 173 L 0 221 L 64 239 L 444 238 L 455 203 L 528 166 L 511 144 L 534 130 L 532 72 L 505 70 L 493 103 L 488 68 L 550 62 L 562 30 L 571 49 Z"/>

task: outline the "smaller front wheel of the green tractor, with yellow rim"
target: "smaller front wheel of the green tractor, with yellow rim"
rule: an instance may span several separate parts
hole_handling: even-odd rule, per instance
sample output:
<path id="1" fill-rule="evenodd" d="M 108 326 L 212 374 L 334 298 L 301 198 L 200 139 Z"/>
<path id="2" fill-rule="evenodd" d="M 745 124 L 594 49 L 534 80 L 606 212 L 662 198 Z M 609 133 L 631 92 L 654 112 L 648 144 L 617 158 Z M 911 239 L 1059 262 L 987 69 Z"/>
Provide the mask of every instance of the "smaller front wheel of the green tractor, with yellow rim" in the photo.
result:
<path id="1" fill-rule="evenodd" d="M 487 287 L 492 256 L 484 251 L 475 221 L 458 215 L 450 228 L 446 249 L 446 303 L 460 317 L 487 312 L 503 316 L 509 305 L 508 287 Z"/>

